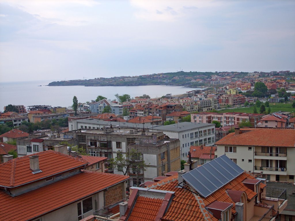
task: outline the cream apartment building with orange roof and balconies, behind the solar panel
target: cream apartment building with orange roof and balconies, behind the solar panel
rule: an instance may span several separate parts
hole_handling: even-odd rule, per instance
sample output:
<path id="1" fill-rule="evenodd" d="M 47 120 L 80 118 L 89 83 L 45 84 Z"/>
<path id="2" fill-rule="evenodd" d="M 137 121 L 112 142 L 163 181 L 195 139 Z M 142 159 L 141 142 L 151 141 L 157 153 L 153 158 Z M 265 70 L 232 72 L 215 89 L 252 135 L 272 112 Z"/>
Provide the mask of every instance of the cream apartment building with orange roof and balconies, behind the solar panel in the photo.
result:
<path id="1" fill-rule="evenodd" d="M 246 171 L 263 172 L 272 181 L 294 182 L 293 128 L 235 128 L 235 133 L 215 144 L 217 157 L 226 154 Z"/>

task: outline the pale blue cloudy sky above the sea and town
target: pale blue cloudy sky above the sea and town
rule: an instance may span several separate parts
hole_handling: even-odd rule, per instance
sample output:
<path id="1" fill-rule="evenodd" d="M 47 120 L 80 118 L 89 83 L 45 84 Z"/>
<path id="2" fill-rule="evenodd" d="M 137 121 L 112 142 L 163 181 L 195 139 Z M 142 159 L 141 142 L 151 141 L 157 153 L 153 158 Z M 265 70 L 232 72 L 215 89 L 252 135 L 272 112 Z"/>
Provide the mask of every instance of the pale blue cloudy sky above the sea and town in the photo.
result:
<path id="1" fill-rule="evenodd" d="M 295 71 L 295 1 L 0 0 L 0 81 Z"/>

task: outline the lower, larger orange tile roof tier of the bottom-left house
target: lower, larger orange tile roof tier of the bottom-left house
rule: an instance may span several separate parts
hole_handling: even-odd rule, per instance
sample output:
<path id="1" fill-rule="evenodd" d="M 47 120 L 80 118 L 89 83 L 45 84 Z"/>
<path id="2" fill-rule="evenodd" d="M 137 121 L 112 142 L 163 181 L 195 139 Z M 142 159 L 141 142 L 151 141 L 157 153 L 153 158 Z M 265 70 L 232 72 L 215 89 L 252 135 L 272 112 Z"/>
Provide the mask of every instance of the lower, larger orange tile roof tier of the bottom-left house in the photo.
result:
<path id="1" fill-rule="evenodd" d="M 29 220 L 127 179 L 123 175 L 82 170 L 80 174 L 15 197 L 0 191 L 0 210 L 5 211 L 0 213 L 0 220 Z"/>

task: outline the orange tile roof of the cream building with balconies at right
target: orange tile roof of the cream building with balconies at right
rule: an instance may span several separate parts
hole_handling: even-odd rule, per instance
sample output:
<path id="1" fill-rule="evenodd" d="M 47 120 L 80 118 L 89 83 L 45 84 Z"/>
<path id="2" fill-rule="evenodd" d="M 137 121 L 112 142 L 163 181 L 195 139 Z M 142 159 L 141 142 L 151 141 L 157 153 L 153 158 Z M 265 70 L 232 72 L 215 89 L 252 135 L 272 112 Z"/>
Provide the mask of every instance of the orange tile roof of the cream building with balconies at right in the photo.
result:
<path id="1" fill-rule="evenodd" d="M 295 129 L 241 128 L 240 131 L 246 132 L 237 135 L 230 133 L 215 144 L 295 147 Z"/>

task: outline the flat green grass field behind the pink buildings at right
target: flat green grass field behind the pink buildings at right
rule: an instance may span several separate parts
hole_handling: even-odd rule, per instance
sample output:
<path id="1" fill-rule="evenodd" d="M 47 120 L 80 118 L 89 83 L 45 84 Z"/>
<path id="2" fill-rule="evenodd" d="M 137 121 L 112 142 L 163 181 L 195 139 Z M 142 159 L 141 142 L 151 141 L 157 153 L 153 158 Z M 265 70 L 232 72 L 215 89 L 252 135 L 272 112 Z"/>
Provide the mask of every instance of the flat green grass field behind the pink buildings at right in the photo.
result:
<path id="1" fill-rule="evenodd" d="M 292 102 L 289 103 L 270 103 L 269 107 L 271 108 L 272 112 L 277 111 L 288 111 L 288 112 L 295 112 L 295 108 L 291 107 Z M 243 108 L 227 108 L 223 110 L 218 110 L 218 113 L 225 113 L 225 112 L 241 112 L 241 113 L 253 113 L 254 106 L 252 107 L 243 107 Z M 259 113 L 259 108 L 256 108 L 257 112 Z M 266 108 L 268 111 L 268 108 Z"/>

